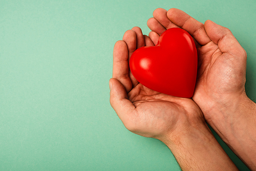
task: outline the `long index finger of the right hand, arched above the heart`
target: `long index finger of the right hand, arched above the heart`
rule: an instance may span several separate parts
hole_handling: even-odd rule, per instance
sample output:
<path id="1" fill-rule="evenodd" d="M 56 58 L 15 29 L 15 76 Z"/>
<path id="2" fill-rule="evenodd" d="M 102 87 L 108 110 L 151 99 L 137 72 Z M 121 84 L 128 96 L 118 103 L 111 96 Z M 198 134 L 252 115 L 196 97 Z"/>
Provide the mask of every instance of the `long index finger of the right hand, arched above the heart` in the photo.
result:
<path id="1" fill-rule="evenodd" d="M 198 22 L 193 17 L 189 16 L 185 12 L 179 9 L 169 9 L 167 11 L 167 17 L 175 25 L 186 30 L 191 36 L 193 36 L 200 45 L 206 45 L 210 42 L 210 38 L 204 30 L 204 24 Z"/>

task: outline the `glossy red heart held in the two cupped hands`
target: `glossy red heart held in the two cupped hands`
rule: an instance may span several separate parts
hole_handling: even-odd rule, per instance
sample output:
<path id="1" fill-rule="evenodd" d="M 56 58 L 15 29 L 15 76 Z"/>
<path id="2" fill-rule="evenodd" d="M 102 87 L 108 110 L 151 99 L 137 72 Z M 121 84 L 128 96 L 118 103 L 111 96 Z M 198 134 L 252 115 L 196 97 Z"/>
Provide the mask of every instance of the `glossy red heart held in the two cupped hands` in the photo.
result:
<path id="1" fill-rule="evenodd" d="M 134 77 L 145 87 L 190 98 L 197 79 L 197 48 L 188 32 L 166 30 L 154 47 L 141 47 L 130 58 Z"/>

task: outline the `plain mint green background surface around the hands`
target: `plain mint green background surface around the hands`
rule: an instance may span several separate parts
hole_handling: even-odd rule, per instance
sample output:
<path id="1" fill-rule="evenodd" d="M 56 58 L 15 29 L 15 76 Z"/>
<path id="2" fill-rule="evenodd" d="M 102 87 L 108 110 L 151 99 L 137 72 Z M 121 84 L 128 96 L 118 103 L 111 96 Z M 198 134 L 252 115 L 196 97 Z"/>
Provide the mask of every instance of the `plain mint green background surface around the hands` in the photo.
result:
<path id="1" fill-rule="evenodd" d="M 125 129 L 109 103 L 112 53 L 156 8 L 229 28 L 255 101 L 256 1 L 0 1 L 0 170 L 179 170 L 160 141 Z M 241 170 L 248 168 L 216 136 Z"/>

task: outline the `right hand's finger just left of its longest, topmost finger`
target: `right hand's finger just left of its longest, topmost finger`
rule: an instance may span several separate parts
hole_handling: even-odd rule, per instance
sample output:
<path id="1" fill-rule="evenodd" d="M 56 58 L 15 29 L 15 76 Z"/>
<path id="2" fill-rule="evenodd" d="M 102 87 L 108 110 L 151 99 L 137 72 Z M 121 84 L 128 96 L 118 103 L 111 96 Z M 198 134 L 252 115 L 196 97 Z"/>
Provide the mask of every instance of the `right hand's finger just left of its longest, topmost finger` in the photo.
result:
<path id="1" fill-rule="evenodd" d="M 158 8 L 153 12 L 154 18 L 165 28 L 179 28 L 177 25 L 175 25 L 172 21 L 169 20 L 167 17 L 167 11 L 162 8 Z"/>

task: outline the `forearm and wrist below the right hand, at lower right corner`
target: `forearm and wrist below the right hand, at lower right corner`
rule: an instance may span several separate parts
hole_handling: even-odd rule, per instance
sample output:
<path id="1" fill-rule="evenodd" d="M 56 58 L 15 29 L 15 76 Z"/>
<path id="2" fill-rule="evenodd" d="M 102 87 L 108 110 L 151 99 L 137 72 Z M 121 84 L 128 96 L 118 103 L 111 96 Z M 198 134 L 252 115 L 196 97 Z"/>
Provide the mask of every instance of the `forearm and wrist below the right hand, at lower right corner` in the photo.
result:
<path id="1" fill-rule="evenodd" d="M 234 98 L 232 103 L 207 122 L 251 170 L 256 170 L 256 104 L 246 95 Z"/>

